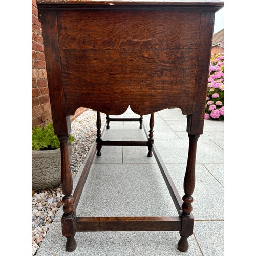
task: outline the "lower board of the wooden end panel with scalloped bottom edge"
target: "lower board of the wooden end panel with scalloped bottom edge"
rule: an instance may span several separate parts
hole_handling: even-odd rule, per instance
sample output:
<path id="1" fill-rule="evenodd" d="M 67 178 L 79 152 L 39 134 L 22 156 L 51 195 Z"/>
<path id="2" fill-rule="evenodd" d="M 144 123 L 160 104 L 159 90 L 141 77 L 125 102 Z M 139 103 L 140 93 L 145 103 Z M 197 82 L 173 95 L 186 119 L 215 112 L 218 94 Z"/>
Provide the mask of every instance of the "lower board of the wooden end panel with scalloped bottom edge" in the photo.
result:
<path id="1" fill-rule="evenodd" d="M 171 106 L 191 113 L 196 50 L 61 50 L 66 111 L 79 106 L 140 115 Z M 101 100 L 104 97 L 104 100 Z"/>

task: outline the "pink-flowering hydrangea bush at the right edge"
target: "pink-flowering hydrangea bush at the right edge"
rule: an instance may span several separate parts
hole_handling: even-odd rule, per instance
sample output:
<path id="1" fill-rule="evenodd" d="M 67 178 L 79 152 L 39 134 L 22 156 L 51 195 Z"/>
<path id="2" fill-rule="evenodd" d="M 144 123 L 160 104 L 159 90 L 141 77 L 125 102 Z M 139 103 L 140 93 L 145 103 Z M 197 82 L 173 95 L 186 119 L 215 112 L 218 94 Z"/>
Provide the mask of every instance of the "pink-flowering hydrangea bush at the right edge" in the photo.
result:
<path id="1" fill-rule="evenodd" d="M 224 56 L 211 59 L 204 119 L 224 119 Z"/>

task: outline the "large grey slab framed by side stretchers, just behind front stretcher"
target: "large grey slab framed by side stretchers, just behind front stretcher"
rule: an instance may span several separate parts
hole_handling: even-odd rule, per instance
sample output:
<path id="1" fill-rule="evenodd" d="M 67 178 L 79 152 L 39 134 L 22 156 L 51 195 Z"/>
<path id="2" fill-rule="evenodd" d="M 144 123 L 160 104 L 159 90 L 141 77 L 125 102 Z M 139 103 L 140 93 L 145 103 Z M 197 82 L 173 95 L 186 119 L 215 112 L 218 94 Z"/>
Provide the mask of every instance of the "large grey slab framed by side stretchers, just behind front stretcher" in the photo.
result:
<path id="1" fill-rule="evenodd" d="M 157 164 L 93 164 L 77 216 L 178 216 Z"/>

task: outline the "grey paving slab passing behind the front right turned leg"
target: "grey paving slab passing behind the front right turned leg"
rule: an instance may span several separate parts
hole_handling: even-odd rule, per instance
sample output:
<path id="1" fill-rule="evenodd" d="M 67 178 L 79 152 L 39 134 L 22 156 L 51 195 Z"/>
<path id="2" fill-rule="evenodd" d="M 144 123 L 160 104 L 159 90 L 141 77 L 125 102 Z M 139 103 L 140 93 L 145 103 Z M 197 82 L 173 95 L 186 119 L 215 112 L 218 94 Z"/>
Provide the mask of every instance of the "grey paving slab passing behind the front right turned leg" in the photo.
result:
<path id="1" fill-rule="evenodd" d="M 186 164 L 166 164 L 174 184 L 182 197 Z M 193 193 L 193 215 L 196 220 L 224 219 L 224 189 L 203 164 L 196 165 L 196 186 Z"/>

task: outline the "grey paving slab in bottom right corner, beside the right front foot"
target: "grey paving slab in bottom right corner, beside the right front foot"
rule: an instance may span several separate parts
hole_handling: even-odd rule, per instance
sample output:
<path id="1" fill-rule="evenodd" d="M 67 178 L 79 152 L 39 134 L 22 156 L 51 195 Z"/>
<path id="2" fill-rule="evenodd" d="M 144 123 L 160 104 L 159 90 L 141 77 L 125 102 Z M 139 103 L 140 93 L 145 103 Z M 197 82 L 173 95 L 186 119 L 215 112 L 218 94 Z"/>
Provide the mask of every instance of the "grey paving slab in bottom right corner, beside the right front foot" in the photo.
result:
<path id="1" fill-rule="evenodd" d="M 203 255 L 224 255 L 223 221 L 195 221 L 194 236 Z"/>

